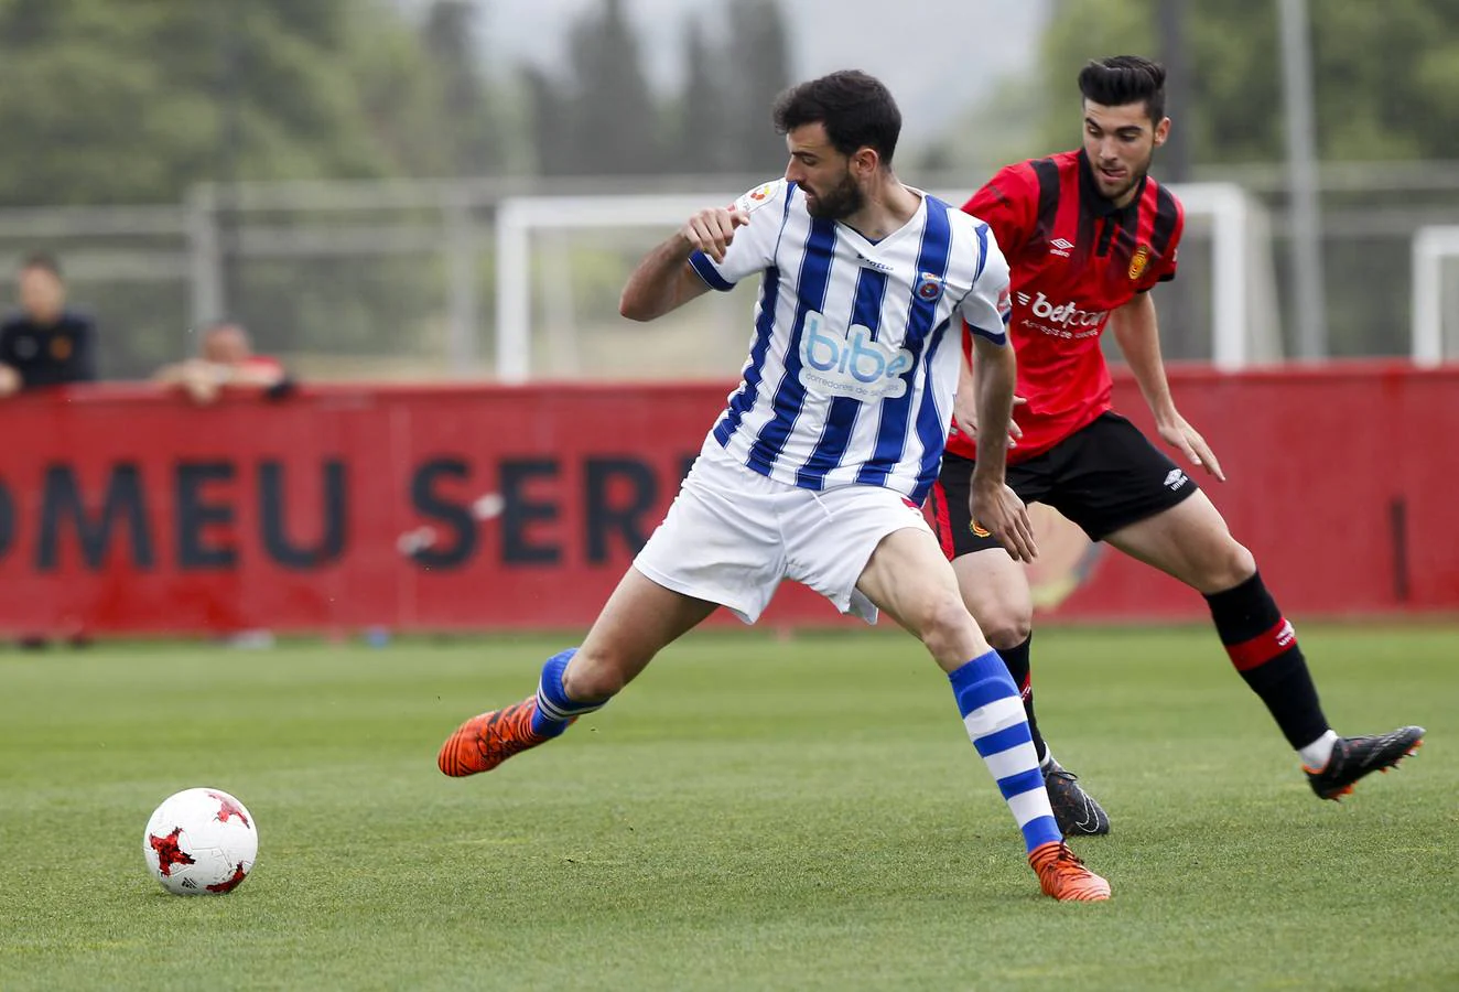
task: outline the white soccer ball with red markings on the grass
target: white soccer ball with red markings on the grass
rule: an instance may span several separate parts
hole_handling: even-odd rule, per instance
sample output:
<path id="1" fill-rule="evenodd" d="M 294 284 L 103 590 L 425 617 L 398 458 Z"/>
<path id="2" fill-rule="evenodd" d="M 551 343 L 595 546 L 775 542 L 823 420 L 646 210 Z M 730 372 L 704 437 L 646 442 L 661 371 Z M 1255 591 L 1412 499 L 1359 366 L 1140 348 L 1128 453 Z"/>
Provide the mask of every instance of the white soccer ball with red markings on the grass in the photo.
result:
<path id="1" fill-rule="evenodd" d="M 147 871 L 174 896 L 220 896 L 238 888 L 258 856 L 258 827 L 222 789 L 169 795 L 142 834 Z"/>

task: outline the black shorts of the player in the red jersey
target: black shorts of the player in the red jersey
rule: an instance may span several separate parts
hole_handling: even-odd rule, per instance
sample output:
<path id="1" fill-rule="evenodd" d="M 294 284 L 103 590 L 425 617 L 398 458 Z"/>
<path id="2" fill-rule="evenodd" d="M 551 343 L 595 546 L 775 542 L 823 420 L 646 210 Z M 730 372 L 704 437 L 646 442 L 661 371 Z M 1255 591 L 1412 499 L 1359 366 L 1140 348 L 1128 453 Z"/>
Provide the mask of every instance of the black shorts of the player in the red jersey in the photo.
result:
<path id="1" fill-rule="evenodd" d="M 1002 547 L 975 528 L 967 505 L 973 461 L 943 455 L 932 487 L 932 525 L 947 557 Z M 1045 503 L 1091 541 L 1170 509 L 1199 486 L 1118 413 L 1103 413 L 1042 455 L 1008 465 L 1008 486 L 1024 503 Z"/>

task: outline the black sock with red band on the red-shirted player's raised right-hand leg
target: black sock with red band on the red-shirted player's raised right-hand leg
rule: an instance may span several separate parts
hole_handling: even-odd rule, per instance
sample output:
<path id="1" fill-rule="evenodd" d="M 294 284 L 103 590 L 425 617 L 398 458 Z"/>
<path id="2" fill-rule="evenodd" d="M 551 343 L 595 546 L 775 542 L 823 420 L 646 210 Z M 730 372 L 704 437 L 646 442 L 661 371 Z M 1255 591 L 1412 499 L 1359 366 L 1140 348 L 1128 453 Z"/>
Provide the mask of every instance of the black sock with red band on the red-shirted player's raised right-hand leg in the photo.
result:
<path id="1" fill-rule="evenodd" d="M 1231 664 L 1266 703 L 1293 748 L 1301 750 L 1326 734 L 1328 718 L 1297 646 L 1297 632 L 1281 616 L 1261 572 L 1205 601 Z"/>

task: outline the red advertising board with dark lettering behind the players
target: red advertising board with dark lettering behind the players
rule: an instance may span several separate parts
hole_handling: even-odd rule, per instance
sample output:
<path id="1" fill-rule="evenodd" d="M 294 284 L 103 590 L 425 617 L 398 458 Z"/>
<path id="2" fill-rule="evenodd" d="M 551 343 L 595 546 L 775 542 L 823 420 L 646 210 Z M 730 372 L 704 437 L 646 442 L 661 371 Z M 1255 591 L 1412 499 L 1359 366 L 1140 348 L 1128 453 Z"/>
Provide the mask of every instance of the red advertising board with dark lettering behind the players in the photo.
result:
<path id="1" fill-rule="evenodd" d="M 1459 608 L 1459 371 L 1173 371 L 1195 473 L 1284 610 Z M 93 387 L 0 406 L 0 632 L 579 627 L 662 518 L 724 384 L 330 385 L 193 407 Z M 1134 384 L 1116 406 L 1148 427 Z M 1193 619 L 1050 538 L 1053 617 Z M 1071 579 L 1071 581 L 1065 581 Z M 1077 581 L 1074 581 L 1077 579 Z M 835 623 L 786 585 L 767 621 Z"/>

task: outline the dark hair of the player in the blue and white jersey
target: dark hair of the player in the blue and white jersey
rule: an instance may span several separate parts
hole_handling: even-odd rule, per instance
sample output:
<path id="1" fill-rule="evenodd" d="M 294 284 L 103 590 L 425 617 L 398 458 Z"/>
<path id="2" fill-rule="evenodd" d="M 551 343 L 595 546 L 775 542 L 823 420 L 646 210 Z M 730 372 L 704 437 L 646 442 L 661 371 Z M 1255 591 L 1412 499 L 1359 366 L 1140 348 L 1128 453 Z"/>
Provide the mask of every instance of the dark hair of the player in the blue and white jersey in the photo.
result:
<path id="1" fill-rule="evenodd" d="M 881 80 L 855 69 L 792 86 L 775 101 L 775 130 L 788 134 L 820 124 L 842 155 L 870 147 L 891 165 L 902 134 L 902 111 Z"/>

